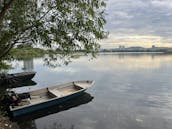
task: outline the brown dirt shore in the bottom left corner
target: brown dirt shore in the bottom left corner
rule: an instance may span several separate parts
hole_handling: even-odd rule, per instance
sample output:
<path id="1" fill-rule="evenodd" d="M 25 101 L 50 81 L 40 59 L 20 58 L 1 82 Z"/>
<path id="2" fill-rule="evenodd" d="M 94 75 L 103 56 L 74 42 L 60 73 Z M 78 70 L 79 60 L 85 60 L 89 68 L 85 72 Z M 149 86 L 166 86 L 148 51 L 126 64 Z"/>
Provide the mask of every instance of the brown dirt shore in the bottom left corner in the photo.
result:
<path id="1" fill-rule="evenodd" d="M 0 129 L 19 129 L 15 122 L 11 122 L 8 117 L 0 115 Z"/>

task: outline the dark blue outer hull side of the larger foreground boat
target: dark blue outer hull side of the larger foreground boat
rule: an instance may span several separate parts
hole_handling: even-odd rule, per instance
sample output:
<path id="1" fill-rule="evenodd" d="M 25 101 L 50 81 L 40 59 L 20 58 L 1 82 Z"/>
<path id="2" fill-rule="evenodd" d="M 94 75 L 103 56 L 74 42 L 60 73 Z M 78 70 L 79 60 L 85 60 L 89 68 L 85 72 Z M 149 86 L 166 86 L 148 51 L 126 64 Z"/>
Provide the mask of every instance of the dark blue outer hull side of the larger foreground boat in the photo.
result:
<path id="1" fill-rule="evenodd" d="M 65 97 L 62 97 L 62 98 L 57 98 L 57 99 L 54 99 L 54 100 L 51 100 L 51 101 L 48 101 L 48 102 L 43 102 L 43 103 L 40 103 L 40 104 L 25 107 L 25 108 L 22 108 L 22 109 L 13 110 L 13 111 L 11 111 L 11 113 L 12 113 L 13 117 L 25 115 L 25 114 L 28 114 L 28 113 L 31 113 L 31 112 L 34 112 L 34 111 L 37 111 L 37 110 L 40 110 L 40 109 L 44 109 L 44 108 L 47 108 L 47 107 L 51 107 L 51 106 L 63 103 L 65 101 L 67 101 L 67 100 L 73 99 L 73 98 L 81 95 L 84 91 L 85 90 L 82 90 L 80 92 L 77 92 L 75 94 L 71 94 L 69 96 L 65 96 Z"/>

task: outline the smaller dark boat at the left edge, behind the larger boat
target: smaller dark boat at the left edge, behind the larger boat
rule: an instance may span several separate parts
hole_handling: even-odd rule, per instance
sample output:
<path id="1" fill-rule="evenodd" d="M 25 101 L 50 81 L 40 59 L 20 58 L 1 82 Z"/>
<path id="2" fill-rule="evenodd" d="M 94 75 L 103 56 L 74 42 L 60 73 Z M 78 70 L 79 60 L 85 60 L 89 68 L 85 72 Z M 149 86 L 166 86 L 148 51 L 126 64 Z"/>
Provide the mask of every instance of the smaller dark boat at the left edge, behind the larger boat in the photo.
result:
<path id="1" fill-rule="evenodd" d="M 14 74 L 2 74 L 0 76 L 0 85 L 9 85 L 19 82 L 31 80 L 35 76 L 36 72 L 21 72 Z"/>

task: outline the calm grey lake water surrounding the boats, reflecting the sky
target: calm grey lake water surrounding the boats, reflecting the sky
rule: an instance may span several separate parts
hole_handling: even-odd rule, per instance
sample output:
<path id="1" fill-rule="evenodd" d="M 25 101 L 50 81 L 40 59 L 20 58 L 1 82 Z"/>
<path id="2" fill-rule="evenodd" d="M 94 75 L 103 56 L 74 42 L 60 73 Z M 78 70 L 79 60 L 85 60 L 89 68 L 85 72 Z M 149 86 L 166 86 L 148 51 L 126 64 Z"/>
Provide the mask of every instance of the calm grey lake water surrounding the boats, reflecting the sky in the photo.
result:
<path id="1" fill-rule="evenodd" d="M 50 68 L 42 59 L 13 62 L 9 72 L 34 70 L 39 89 L 73 80 L 95 80 L 83 96 L 29 116 L 22 129 L 171 129 L 172 55 L 101 54 Z"/>

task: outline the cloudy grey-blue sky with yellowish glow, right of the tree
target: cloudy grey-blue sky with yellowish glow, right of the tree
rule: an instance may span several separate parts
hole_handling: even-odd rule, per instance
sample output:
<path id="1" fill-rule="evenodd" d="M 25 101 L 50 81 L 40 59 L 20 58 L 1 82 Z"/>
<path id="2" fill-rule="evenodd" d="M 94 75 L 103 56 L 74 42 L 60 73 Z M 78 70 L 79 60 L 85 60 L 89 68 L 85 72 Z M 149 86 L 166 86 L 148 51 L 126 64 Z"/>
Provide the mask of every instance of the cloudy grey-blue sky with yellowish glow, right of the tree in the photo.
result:
<path id="1" fill-rule="evenodd" d="M 172 0 L 107 0 L 106 20 L 103 48 L 172 47 Z"/>

